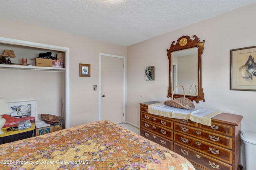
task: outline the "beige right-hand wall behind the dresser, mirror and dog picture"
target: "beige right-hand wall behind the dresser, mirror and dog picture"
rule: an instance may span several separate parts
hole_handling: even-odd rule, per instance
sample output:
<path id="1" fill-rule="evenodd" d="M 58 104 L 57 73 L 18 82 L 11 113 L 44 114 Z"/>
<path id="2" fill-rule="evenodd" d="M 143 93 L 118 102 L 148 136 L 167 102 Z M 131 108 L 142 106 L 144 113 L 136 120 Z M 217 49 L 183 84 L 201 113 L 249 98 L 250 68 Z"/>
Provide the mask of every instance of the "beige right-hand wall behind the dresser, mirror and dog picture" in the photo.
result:
<path id="1" fill-rule="evenodd" d="M 170 100 L 166 97 L 169 86 L 166 49 L 182 35 L 197 35 L 201 41 L 205 40 L 202 54 L 205 102 L 195 106 L 242 115 L 242 131 L 256 132 L 256 92 L 230 90 L 230 49 L 256 45 L 255 9 L 256 4 L 252 4 L 129 46 L 126 120 L 140 126 L 139 103 Z M 144 80 L 146 66 L 155 66 L 155 81 Z"/>

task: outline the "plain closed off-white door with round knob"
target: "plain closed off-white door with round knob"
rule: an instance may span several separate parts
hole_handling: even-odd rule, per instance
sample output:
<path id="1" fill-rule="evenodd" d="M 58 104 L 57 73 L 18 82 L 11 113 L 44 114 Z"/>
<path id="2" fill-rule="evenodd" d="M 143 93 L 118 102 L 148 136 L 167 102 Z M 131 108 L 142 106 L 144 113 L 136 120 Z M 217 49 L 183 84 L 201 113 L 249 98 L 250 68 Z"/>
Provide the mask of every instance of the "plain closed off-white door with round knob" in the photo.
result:
<path id="1" fill-rule="evenodd" d="M 124 122 L 124 57 L 100 55 L 100 119 Z"/>

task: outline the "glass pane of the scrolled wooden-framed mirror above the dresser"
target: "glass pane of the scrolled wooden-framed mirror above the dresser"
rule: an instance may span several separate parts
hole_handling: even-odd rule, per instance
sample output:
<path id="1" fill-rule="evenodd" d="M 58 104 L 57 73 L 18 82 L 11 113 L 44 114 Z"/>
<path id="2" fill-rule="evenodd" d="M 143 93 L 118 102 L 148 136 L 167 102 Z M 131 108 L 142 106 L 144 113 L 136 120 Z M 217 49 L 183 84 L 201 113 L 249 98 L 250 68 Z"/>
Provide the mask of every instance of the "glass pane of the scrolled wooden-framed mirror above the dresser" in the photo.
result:
<path id="1" fill-rule="evenodd" d="M 172 57 L 172 91 L 182 84 L 185 94 L 198 96 L 198 47 L 173 51 Z M 176 88 L 174 94 L 184 94 L 181 87 Z"/>

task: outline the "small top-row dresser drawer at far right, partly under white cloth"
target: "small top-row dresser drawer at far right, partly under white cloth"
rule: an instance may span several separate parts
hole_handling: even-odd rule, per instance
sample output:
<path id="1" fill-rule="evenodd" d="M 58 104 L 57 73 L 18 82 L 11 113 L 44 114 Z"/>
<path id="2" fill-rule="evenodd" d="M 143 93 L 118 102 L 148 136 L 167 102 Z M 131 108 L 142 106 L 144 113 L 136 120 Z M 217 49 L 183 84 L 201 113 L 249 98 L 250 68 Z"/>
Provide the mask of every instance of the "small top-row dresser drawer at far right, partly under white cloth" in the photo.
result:
<path id="1" fill-rule="evenodd" d="M 232 137 L 232 126 L 226 126 L 226 125 L 221 125 L 221 124 L 212 122 L 211 126 L 199 124 L 199 127 L 207 131 L 212 131 L 214 133 Z"/>

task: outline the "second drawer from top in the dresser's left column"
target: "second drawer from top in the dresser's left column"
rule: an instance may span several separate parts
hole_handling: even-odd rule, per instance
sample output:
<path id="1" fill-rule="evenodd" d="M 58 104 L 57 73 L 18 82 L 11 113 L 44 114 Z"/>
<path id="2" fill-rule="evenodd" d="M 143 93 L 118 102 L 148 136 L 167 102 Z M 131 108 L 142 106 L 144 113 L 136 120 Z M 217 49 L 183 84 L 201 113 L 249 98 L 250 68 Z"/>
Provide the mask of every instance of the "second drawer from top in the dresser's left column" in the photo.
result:
<path id="1" fill-rule="evenodd" d="M 168 121 L 168 120 L 162 119 L 160 117 L 156 117 L 156 116 L 153 116 L 151 114 L 146 114 L 146 113 L 141 113 L 140 115 L 141 115 L 141 119 L 151 121 L 155 124 L 161 125 L 161 126 L 166 127 L 168 129 L 173 129 L 173 122 L 172 121 Z"/>

